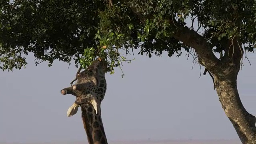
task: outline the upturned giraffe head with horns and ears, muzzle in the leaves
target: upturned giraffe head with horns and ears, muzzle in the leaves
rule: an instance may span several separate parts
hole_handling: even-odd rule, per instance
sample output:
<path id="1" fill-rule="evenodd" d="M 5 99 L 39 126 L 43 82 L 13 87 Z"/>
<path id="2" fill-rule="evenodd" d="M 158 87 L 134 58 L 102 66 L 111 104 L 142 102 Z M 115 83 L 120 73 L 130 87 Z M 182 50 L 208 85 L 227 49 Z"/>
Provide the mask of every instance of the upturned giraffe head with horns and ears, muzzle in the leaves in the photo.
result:
<path id="1" fill-rule="evenodd" d="M 107 63 L 102 58 L 97 58 L 86 70 L 77 75 L 77 83 L 61 91 L 62 94 L 76 96 L 76 101 L 68 108 L 67 116 L 77 113 L 79 106 L 92 104 L 96 114 L 100 110 L 100 102 L 106 92 L 105 72 Z"/>

